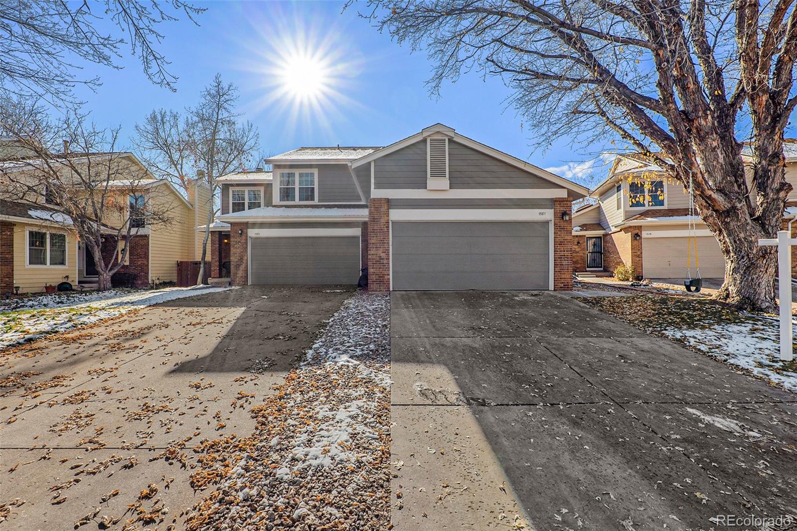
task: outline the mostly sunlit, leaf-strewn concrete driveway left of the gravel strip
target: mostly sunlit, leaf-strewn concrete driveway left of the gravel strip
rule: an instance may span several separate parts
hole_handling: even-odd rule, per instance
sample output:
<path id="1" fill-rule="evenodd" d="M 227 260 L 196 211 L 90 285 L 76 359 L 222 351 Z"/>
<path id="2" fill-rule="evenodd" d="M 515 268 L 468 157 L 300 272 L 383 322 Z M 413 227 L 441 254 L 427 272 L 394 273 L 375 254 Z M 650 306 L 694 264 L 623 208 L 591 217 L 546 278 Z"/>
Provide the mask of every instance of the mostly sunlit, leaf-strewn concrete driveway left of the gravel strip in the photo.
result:
<path id="1" fill-rule="evenodd" d="M 350 296 L 249 286 L 0 352 L 0 529 L 183 529 L 197 460 L 252 433 Z"/>

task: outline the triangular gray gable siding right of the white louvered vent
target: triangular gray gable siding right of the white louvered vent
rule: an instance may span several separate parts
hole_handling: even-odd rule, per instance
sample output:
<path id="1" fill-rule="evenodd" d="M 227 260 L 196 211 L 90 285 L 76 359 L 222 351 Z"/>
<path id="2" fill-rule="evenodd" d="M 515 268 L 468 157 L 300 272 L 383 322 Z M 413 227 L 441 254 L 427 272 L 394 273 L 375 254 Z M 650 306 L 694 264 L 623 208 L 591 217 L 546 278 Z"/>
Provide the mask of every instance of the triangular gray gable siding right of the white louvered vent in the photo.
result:
<path id="1" fill-rule="evenodd" d="M 424 154 L 426 156 L 426 154 Z M 424 159 L 426 163 L 426 159 Z M 425 169 L 425 168 L 424 168 Z M 561 188 L 512 164 L 449 140 L 449 182 L 454 188 Z M 426 183 L 424 183 L 426 187 Z"/>

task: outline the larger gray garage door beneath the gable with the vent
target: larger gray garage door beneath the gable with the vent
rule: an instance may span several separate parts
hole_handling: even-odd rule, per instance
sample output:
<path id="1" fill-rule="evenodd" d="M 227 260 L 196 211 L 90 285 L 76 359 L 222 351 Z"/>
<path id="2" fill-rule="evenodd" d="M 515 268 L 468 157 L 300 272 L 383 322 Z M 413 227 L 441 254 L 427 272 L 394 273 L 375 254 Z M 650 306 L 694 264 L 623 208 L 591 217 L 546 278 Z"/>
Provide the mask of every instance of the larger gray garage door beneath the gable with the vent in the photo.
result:
<path id="1" fill-rule="evenodd" d="M 549 222 L 393 222 L 393 289 L 549 289 Z"/>

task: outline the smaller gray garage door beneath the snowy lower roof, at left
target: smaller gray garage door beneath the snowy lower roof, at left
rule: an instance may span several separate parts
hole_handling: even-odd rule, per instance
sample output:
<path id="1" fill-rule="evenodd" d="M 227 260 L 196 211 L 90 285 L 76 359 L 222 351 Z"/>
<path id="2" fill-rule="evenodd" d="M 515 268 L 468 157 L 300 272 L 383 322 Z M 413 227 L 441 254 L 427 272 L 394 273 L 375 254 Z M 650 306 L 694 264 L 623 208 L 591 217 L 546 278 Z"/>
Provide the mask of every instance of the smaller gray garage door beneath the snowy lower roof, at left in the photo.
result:
<path id="1" fill-rule="evenodd" d="M 250 238 L 249 284 L 356 284 L 359 236 Z"/>

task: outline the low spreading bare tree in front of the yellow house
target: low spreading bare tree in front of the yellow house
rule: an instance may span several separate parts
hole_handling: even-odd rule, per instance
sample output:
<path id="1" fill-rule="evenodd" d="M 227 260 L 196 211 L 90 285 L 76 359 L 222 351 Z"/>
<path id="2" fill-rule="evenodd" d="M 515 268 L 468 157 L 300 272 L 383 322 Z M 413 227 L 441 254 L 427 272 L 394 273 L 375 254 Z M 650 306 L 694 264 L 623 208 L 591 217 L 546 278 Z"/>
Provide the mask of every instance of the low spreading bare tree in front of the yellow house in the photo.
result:
<path id="1" fill-rule="evenodd" d="M 48 221 L 73 231 L 92 254 L 98 289 L 111 287 L 132 238 L 173 221 L 152 175 L 132 153 L 117 151 L 118 128 L 96 128 L 77 114 L 53 122 L 24 104 L 0 105 L 0 128 L 16 149 L 0 163 L 0 197 L 54 210 Z"/>

